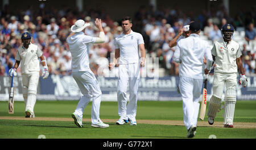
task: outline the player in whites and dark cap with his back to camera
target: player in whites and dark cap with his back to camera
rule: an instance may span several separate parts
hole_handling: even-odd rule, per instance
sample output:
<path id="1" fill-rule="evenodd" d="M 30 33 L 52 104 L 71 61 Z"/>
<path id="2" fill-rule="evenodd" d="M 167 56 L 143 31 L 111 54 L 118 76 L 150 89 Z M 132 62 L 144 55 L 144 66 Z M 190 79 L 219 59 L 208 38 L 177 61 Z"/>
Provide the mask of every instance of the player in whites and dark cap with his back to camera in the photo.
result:
<path id="1" fill-rule="evenodd" d="M 199 98 L 205 72 L 204 56 L 207 59 L 206 69 L 208 72 L 213 60 L 210 45 L 199 37 L 200 24 L 192 22 L 189 25 L 189 32 L 188 38 L 178 41 L 173 59 L 180 64 L 179 89 L 183 101 L 183 120 L 188 130 L 187 137 L 193 138 L 196 132 Z"/>

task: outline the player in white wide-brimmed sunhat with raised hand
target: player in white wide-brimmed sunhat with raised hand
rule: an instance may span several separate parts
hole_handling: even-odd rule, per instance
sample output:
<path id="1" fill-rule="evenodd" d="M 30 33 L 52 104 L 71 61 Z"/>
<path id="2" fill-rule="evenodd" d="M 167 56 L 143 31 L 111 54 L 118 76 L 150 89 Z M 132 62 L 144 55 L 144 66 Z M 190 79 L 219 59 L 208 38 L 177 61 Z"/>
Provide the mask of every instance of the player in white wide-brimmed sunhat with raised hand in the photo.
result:
<path id="1" fill-rule="evenodd" d="M 100 119 L 100 103 L 101 103 L 101 89 L 100 85 L 93 72 L 89 67 L 89 50 L 93 43 L 104 43 L 105 34 L 101 26 L 101 19 L 96 18 L 95 25 L 99 29 L 99 37 L 92 37 L 85 35 L 85 28 L 90 26 L 84 20 L 77 20 L 71 27 L 73 32 L 67 38 L 69 50 L 72 55 L 72 74 L 79 89 L 81 90 L 82 97 L 76 107 L 72 118 L 78 127 L 82 125 L 82 115 L 86 105 L 92 100 L 92 127 L 107 128 L 109 124 L 105 124 Z"/>

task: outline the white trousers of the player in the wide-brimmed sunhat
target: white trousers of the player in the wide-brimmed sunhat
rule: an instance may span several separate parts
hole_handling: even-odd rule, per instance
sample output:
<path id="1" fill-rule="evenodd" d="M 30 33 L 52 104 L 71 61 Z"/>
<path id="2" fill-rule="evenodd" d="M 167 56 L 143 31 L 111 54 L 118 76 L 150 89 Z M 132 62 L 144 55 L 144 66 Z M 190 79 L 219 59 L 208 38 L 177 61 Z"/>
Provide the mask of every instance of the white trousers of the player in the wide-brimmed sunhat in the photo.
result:
<path id="1" fill-rule="evenodd" d="M 92 124 L 101 122 L 100 120 L 100 105 L 101 105 L 101 89 L 98 81 L 91 70 L 85 72 L 73 72 L 79 89 L 81 90 L 82 97 L 76 107 L 75 114 L 82 119 L 85 107 L 92 100 Z"/>

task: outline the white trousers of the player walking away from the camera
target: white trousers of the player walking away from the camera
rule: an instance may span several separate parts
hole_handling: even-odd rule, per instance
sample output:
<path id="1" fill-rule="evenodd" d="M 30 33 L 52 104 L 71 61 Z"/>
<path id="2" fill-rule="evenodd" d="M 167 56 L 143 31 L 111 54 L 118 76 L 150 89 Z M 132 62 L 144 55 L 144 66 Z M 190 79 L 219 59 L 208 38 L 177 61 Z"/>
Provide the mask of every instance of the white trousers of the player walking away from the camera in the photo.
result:
<path id="1" fill-rule="evenodd" d="M 197 124 L 202 86 L 203 79 L 180 77 L 179 89 L 183 101 L 183 120 L 187 130 Z"/>

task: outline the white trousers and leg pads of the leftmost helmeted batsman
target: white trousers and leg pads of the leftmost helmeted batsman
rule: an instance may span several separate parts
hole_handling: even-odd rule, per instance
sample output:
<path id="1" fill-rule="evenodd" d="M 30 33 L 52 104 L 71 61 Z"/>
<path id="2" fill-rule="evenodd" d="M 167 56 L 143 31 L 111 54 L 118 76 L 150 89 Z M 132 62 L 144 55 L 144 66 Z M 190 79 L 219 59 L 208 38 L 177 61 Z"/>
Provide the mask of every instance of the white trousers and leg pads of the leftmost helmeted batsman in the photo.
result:
<path id="1" fill-rule="evenodd" d="M 25 111 L 30 110 L 32 114 L 34 114 L 39 76 L 39 72 L 22 74 L 22 93 Z"/>

